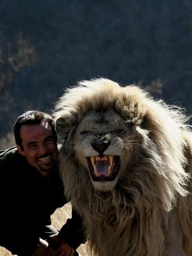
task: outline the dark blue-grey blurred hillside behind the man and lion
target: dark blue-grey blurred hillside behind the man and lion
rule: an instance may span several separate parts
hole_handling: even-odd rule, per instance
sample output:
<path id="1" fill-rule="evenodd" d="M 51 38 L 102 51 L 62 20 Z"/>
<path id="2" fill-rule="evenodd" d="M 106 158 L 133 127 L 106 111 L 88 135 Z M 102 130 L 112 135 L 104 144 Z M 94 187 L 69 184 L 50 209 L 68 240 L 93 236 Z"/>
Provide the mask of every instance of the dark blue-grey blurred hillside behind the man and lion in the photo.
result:
<path id="1" fill-rule="evenodd" d="M 51 113 L 64 88 L 99 76 L 190 115 L 192 1 L 0 1 L 0 149 L 24 111 Z"/>

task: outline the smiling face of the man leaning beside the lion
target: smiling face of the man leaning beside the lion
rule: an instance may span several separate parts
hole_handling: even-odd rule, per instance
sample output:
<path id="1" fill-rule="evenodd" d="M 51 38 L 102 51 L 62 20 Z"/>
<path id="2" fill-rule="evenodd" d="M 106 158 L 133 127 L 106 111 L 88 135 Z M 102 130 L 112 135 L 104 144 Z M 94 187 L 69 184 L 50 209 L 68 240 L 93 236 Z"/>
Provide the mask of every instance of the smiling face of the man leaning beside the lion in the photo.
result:
<path id="1" fill-rule="evenodd" d="M 47 175 L 56 165 L 58 158 L 57 142 L 49 123 L 24 124 L 20 129 L 20 137 L 23 149 L 17 145 L 19 153 L 26 156 L 29 164 L 41 175 Z"/>

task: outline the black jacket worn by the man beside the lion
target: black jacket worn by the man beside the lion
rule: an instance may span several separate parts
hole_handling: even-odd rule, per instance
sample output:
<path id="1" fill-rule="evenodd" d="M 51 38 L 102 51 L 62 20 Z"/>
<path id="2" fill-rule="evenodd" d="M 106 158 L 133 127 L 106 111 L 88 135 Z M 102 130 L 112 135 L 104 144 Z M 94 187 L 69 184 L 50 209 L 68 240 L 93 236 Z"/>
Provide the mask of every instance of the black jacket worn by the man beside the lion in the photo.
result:
<path id="1" fill-rule="evenodd" d="M 0 246 L 13 254 L 36 247 L 42 226 L 66 204 L 58 170 L 41 177 L 16 147 L 0 151 Z M 84 241 L 82 220 L 73 211 L 60 235 L 72 247 Z"/>

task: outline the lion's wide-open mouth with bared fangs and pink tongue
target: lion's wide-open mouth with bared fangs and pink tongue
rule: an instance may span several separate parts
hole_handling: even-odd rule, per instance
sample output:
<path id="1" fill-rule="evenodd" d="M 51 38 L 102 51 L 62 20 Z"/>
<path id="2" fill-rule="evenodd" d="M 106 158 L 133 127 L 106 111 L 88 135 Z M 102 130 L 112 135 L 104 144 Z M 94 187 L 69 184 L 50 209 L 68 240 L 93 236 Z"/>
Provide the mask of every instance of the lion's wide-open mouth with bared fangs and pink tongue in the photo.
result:
<path id="1" fill-rule="evenodd" d="M 113 181 L 119 171 L 119 156 L 87 157 L 93 181 Z"/>

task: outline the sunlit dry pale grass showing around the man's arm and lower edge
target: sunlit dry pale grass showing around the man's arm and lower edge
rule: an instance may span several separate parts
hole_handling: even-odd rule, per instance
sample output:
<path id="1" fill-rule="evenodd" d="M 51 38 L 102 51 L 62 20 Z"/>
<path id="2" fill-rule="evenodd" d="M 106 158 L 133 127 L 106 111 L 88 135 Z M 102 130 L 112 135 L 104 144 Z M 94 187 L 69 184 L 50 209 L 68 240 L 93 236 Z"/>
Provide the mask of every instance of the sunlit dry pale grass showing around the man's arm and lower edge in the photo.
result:
<path id="1" fill-rule="evenodd" d="M 67 218 L 71 217 L 71 206 L 70 203 L 66 204 L 62 208 L 58 208 L 53 215 L 51 216 L 52 224 L 55 228 L 60 229 L 63 224 L 66 222 Z M 90 254 L 87 252 L 86 243 L 85 245 L 81 245 L 78 250 L 81 256 L 89 256 Z M 12 256 L 11 252 L 7 251 L 5 248 L 0 247 L 0 256 Z"/>

